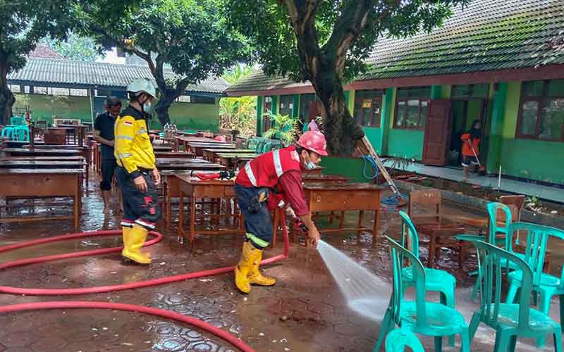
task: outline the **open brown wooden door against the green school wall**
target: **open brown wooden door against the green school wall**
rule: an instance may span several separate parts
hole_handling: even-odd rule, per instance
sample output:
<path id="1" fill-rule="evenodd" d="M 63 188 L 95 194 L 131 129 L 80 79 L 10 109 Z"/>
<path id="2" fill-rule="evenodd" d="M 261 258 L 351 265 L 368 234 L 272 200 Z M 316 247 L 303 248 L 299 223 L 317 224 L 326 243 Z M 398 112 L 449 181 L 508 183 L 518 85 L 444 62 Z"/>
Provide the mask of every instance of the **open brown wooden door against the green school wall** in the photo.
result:
<path id="1" fill-rule="evenodd" d="M 446 165 L 450 142 L 450 120 L 450 101 L 446 99 L 429 101 L 423 142 L 422 162 L 425 165 Z"/>

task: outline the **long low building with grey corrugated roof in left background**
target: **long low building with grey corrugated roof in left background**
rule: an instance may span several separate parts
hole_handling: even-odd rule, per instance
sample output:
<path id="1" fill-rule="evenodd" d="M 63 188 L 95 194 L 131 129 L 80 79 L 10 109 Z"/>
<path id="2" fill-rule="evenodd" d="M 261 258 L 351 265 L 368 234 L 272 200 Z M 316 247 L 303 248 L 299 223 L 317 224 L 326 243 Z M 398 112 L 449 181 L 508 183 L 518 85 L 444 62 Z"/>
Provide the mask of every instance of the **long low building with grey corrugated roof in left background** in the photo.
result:
<path id="1" fill-rule="evenodd" d="M 166 79 L 173 78 L 164 69 Z M 14 113 L 21 114 L 29 106 L 34 120 L 56 118 L 79 119 L 88 123 L 103 113 L 107 96 L 125 101 L 125 87 L 139 77 L 153 79 L 147 65 L 124 65 L 71 61 L 65 58 L 27 59 L 25 68 L 8 75 L 8 85 L 16 96 Z M 184 94 L 171 105 L 171 122 L 178 129 L 211 130 L 219 123 L 219 98 L 229 84 L 220 77 L 209 77 L 187 87 Z M 149 122 L 161 128 L 157 118 Z"/>

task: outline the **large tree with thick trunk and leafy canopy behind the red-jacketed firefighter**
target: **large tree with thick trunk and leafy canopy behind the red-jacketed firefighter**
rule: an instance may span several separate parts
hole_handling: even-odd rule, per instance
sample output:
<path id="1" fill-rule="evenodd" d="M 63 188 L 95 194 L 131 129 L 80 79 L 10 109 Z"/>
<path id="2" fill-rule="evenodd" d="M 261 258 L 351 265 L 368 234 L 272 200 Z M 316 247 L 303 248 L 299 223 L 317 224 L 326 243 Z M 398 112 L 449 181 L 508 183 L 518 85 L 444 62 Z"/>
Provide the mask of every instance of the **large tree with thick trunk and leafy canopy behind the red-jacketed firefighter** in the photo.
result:
<path id="1" fill-rule="evenodd" d="M 469 0 L 226 0 L 230 24 L 250 38 L 266 74 L 309 80 L 333 155 L 364 135 L 345 108 L 343 83 L 367 69 L 381 37 L 432 30 Z"/>

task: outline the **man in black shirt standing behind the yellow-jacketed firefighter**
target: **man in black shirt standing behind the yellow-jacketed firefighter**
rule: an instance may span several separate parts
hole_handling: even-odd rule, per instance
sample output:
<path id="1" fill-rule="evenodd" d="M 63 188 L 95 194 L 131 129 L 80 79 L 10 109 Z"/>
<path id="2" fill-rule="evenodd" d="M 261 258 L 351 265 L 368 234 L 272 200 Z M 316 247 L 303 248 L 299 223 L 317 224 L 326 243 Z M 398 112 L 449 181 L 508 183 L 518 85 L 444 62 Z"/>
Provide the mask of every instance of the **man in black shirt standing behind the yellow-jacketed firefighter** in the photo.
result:
<path id="1" fill-rule="evenodd" d="M 104 198 L 104 211 L 109 209 L 111 180 L 114 178 L 116 158 L 114 157 L 114 122 L 121 113 L 121 100 L 116 96 L 109 96 L 104 102 L 106 113 L 98 115 L 94 121 L 94 139 L 102 144 L 102 197 Z"/>

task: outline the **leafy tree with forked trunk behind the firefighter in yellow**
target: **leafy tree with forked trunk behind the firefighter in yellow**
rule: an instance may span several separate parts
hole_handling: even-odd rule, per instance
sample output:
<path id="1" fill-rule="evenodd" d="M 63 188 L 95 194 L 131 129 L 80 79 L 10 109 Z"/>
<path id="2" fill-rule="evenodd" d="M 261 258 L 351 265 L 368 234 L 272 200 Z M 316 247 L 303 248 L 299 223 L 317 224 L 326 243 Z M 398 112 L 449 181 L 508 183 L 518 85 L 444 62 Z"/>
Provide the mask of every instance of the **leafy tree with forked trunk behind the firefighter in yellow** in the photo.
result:
<path id="1" fill-rule="evenodd" d="M 147 61 L 161 94 L 155 110 L 162 124 L 168 122 L 168 107 L 189 84 L 221 75 L 251 54 L 245 37 L 227 26 L 216 1 L 142 1 L 117 23 L 101 21 L 90 13 L 90 5 L 78 11 L 82 34 Z M 166 65 L 175 74 L 173 78 L 166 77 Z"/>

